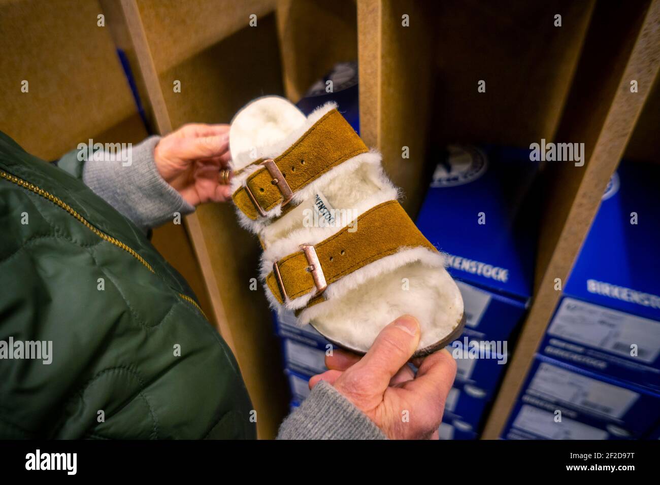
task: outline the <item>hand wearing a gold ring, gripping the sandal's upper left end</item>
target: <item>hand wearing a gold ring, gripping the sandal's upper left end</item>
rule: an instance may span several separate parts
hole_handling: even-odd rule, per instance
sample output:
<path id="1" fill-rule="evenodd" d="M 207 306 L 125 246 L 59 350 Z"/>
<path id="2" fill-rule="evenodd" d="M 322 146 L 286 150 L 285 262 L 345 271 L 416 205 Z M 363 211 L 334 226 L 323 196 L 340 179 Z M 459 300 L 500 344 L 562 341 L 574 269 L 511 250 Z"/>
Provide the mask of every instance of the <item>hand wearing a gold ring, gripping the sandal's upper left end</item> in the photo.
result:
<path id="1" fill-rule="evenodd" d="M 189 123 L 154 149 L 158 173 L 190 205 L 231 198 L 230 160 L 229 125 Z"/>

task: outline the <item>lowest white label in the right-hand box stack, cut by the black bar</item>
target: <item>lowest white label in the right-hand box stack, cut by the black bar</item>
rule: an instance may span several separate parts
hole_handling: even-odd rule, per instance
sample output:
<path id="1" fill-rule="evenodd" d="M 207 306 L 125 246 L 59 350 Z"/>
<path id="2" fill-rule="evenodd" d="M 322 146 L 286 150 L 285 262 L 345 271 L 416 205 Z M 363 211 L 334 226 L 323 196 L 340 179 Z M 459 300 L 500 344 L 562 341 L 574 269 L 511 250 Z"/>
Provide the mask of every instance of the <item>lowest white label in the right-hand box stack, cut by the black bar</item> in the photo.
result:
<path id="1" fill-rule="evenodd" d="M 564 417 L 555 422 L 552 412 L 527 404 L 520 408 L 513 427 L 547 439 L 607 439 L 607 431 Z"/>

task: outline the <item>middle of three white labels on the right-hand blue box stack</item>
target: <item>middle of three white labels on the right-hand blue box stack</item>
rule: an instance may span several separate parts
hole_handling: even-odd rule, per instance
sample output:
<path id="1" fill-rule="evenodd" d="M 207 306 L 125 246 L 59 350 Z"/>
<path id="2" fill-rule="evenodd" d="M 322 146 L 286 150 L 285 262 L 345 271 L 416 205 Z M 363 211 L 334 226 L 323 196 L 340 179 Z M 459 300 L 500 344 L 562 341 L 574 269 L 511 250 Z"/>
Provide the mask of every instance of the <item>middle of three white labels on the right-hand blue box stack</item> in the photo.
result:
<path id="1" fill-rule="evenodd" d="M 529 391 L 540 397 L 559 399 L 578 408 L 620 418 L 640 395 L 630 389 L 591 379 L 543 362 L 535 373 Z"/>

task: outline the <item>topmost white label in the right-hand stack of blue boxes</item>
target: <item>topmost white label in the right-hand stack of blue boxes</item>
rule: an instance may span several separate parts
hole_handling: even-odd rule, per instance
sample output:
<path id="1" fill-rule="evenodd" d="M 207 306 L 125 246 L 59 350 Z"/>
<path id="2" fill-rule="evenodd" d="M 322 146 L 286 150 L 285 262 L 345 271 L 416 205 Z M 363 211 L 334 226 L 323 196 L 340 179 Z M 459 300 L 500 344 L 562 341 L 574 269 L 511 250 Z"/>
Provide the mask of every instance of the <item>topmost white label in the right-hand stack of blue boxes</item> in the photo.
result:
<path id="1" fill-rule="evenodd" d="M 623 311 L 564 298 L 548 335 L 607 350 L 631 358 L 634 344 L 642 362 L 651 364 L 660 354 L 660 323 Z"/>

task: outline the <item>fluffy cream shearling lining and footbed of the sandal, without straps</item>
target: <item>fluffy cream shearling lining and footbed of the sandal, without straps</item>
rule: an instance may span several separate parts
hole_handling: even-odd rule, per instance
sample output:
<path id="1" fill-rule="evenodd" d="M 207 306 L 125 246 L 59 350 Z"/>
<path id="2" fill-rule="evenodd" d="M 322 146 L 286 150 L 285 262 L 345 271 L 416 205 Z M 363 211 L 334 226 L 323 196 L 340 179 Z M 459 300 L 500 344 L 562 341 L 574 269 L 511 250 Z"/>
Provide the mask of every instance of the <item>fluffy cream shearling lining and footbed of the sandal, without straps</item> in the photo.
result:
<path id="1" fill-rule="evenodd" d="M 235 171 L 245 169 L 232 180 L 238 189 L 257 158 L 277 158 L 325 113 L 336 108 L 327 104 L 305 117 L 293 104 L 277 96 L 259 98 L 243 108 L 232 121 L 230 148 Z M 336 234 L 343 224 L 332 227 L 304 225 L 305 210 L 312 208 L 314 196 L 321 194 L 334 209 L 347 209 L 352 218 L 375 205 L 397 199 L 397 188 L 381 168 L 378 152 L 350 158 L 295 194 L 299 204 L 275 222 L 269 218 L 253 221 L 240 211 L 243 226 L 259 234 L 265 246 L 261 258 L 261 278 L 273 269 L 273 262 L 299 250 L 302 243 L 319 243 Z M 281 214 L 281 207 L 269 216 Z M 359 224 L 357 226 L 359 232 Z M 280 304 L 266 290 L 271 306 Z M 310 293 L 286 302 L 289 309 L 302 309 L 314 296 Z M 327 286 L 325 301 L 303 309 L 299 325 L 312 324 L 327 339 L 356 352 L 366 352 L 381 329 L 409 313 L 420 322 L 418 350 L 434 348 L 438 342 L 460 331 L 463 300 L 459 288 L 444 267 L 442 254 L 423 247 L 401 248 Z"/>

